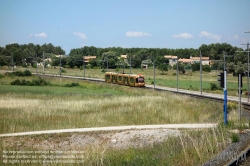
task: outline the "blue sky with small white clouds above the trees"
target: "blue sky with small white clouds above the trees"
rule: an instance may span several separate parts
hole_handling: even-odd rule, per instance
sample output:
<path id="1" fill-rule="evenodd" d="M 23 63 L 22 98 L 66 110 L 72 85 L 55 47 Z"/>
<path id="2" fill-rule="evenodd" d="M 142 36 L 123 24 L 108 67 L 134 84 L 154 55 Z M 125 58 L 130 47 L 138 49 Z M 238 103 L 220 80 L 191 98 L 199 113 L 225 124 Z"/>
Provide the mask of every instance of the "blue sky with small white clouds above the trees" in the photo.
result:
<path id="1" fill-rule="evenodd" d="M 250 41 L 250 0 L 0 0 L 0 46 L 198 48 Z"/>

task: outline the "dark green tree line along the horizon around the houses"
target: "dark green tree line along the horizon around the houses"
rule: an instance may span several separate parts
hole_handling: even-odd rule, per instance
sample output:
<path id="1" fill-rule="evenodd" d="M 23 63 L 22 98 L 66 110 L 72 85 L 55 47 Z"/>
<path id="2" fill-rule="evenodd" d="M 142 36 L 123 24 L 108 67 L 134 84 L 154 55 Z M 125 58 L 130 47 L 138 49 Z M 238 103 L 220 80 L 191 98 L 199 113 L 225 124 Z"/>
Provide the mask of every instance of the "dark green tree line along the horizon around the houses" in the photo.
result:
<path id="1" fill-rule="evenodd" d="M 174 55 L 178 58 L 199 57 L 200 51 L 202 56 L 209 57 L 214 60 L 212 69 L 223 69 L 223 58 L 226 54 L 227 70 L 235 73 L 237 70 L 245 70 L 247 68 L 247 56 L 243 49 L 231 46 L 227 43 L 212 43 L 202 44 L 198 49 L 194 48 L 122 48 L 122 47 L 109 47 L 98 48 L 94 46 L 85 46 L 82 48 L 72 49 L 67 56 L 61 59 L 61 64 L 65 68 L 81 68 L 83 66 L 84 56 L 96 56 L 96 59 L 91 60 L 86 67 L 89 68 L 120 68 L 128 67 L 141 68 L 143 61 L 151 62 L 149 66 L 155 64 L 156 67 L 166 69 L 168 59 L 164 55 Z M 45 54 L 43 54 L 45 53 Z M 51 58 L 51 66 L 58 66 L 60 60 L 55 55 L 63 55 L 65 51 L 60 46 L 53 44 L 34 45 L 32 43 L 19 45 L 17 43 L 0 47 L 0 66 L 3 65 L 32 65 L 36 61 L 41 62 L 43 55 L 45 58 Z M 127 55 L 127 59 L 119 58 L 120 55 Z M 230 55 L 230 56 L 229 56 Z M 38 60 L 37 60 L 38 59 Z M 197 66 L 197 65 L 196 65 Z M 170 67 L 168 65 L 168 67 Z M 196 69 L 194 66 L 186 66 Z M 185 66 L 184 66 L 185 68 Z M 180 69 L 182 69 L 180 65 Z M 182 69 L 183 70 L 183 69 Z"/>

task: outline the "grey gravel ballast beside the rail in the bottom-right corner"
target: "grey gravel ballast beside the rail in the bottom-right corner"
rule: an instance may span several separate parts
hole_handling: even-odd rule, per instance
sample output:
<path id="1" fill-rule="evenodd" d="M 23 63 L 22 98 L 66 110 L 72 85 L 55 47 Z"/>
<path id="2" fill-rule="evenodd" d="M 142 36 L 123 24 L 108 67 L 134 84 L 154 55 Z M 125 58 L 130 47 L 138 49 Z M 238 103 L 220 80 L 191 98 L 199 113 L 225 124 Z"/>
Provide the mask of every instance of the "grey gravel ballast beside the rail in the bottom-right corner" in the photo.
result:
<path id="1" fill-rule="evenodd" d="M 250 130 L 234 131 L 240 134 L 239 142 L 232 143 L 224 151 L 218 154 L 215 158 L 205 163 L 203 166 L 219 166 L 237 158 L 237 155 L 250 145 Z M 243 155 L 242 160 L 246 160 Z M 247 164 L 247 163 L 246 163 Z"/>

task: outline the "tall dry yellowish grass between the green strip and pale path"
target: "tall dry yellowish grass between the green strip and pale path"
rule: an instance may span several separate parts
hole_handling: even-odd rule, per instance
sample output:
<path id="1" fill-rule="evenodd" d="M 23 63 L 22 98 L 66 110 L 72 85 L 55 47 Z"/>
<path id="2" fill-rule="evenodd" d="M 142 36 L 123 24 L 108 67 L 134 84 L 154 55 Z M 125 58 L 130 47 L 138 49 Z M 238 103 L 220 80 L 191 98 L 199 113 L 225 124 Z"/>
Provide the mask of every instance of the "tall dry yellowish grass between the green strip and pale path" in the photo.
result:
<path id="1" fill-rule="evenodd" d="M 33 98 L 26 97 L 28 94 L 0 96 L 0 133 L 97 126 L 205 123 L 218 122 L 222 118 L 218 103 L 202 102 L 171 93 L 144 93 L 140 96 L 48 96 L 49 100 L 41 95 L 33 95 Z"/>

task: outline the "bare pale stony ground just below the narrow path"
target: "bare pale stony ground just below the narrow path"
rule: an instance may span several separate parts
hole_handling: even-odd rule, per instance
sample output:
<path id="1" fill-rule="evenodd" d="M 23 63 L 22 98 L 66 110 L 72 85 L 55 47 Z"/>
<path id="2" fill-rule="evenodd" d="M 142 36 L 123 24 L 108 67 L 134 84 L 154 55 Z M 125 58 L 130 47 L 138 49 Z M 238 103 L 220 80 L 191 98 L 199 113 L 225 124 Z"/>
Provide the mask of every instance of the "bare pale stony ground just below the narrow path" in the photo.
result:
<path id="1" fill-rule="evenodd" d="M 34 150 L 86 150 L 88 148 L 117 148 L 143 147 L 162 142 L 169 136 L 178 136 L 179 130 L 144 129 L 112 132 L 87 132 L 47 135 L 42 137 L 20 136 L 6 137 L 3 147 Z"/>

